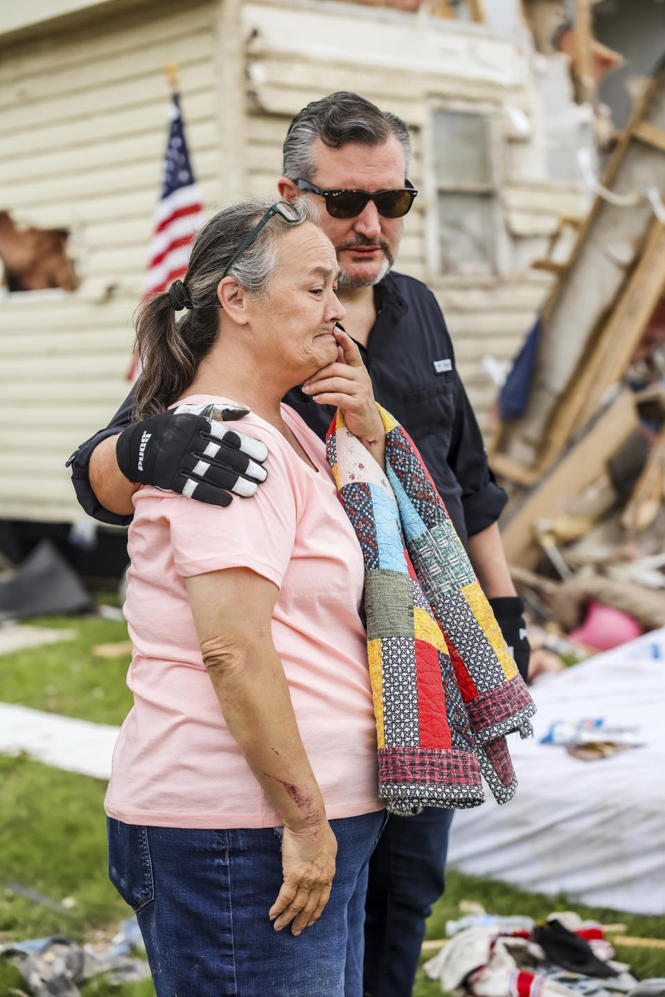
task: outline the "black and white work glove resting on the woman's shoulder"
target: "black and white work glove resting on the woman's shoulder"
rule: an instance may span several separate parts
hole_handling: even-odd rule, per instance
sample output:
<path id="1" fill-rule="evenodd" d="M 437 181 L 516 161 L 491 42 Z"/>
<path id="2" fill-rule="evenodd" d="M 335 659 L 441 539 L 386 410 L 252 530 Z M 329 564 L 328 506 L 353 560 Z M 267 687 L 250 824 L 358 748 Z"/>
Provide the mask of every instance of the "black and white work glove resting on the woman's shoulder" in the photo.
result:
<path id="1" fill-rule="evenodd" d="M 118 466 L 136 485 L 228 505 L 237 496 L 253 496 L 267 475 L 264 444 L 226 422 L 249 412 L 238 406 L 179 405 L 133 423 L 116 443 Z M 223 420 L 223 421 L 222 421 Z"/>

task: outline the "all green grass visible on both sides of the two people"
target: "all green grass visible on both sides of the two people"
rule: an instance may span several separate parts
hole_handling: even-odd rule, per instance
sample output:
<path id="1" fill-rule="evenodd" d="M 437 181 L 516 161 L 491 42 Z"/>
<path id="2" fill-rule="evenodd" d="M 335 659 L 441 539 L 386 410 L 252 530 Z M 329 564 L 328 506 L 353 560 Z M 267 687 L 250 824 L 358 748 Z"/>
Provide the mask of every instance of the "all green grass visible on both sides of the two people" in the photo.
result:
<path id="1" fill-rule="evenodd" d="M 129 657 L 95 658 L 91 647 L 127 638 L 122 621 L 40 619 L 43 625 L 71 627 L 77 639 L 0 656 L 0 701 L 23 703 L 100 723 L 121 724 L 132 705 L 125 680 Z M 77 940 L 111 937 L 129 907 L 107 875 L 106 786 L 60 772 L 24 757 L 0 756 L 0 942 L 46 934 Z M 3 888 L 14 880 L 61 901 L 73 896 L 67 914 L 51 910 Z M 463 875 L 448 874 L 446 895 L 436 905 L 428 938 L 445 937 L 446 921 L 461 916 L 460 902 L 476 900 L 498 914 L 544 918 L 552 910 L 574 909 L 583 917 L 621 921 L 628 934 L 665 937 L 665 918 L 639 917 L 588 907 L 565 897 L 538 893 Z M 429 953 L 428 957 L 430 956 Z M 618 957 L 640 977 L 665 976 L 665 951 L 617 947 Z M 16 971 L 0 960 L 0 997 L 25 990 Z M 103 978 L 82 988 L 85 997 L 153 997 L 151 981 L 113 987 Z M 413 997 L 441 997 L 439 983 L 419 971 Z"/>

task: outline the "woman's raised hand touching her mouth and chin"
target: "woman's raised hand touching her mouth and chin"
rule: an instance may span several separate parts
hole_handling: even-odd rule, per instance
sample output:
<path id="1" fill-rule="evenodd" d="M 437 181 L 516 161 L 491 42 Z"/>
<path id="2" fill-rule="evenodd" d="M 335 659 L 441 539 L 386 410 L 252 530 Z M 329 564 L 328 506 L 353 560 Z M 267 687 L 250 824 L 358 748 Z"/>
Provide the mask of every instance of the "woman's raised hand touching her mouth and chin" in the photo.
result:
<path id="1" fill-rule="evenodd" d="M 360 350 L 342 329 L 333 330 L 337 360 L 307 378 L 302 390 L 319 405 L 335 405 L 344 413 L 351 433 L 366 447 L 385 440 L 386 431 L 376 407 L 372 382 Z"/>

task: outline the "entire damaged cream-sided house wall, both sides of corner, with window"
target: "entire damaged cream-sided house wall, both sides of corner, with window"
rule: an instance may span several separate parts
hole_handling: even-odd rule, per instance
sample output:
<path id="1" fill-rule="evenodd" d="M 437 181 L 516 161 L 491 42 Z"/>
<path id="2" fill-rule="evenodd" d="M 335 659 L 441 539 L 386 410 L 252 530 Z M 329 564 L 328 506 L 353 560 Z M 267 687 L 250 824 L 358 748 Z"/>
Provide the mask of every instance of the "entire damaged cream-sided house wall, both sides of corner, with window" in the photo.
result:
<path id="1" fill-rule="evenodd" d="M 208 212 L 274 192 L 286 128 L 308 101 L 352 89 L 406 119 L 421 192 L 399 266 L 438 295 L 489 429 L 496 388 L 483 357 L 516 352 L 550 281 L 527 264 L 559 215 L 582 203 L 578 182 L 549 172 L 520 8 L 497 3 L 486 3 L 486 23 L 328 0 L 108 0 L 6 36 L 0 17 L 0 209 L 21 227 L 67 230 L 79 281 L 73 291 L 0 292 L 0 517 L 74 518 L 64 461 L 127 393 L 166 141 L 166 62 L 178 66 Z"/>

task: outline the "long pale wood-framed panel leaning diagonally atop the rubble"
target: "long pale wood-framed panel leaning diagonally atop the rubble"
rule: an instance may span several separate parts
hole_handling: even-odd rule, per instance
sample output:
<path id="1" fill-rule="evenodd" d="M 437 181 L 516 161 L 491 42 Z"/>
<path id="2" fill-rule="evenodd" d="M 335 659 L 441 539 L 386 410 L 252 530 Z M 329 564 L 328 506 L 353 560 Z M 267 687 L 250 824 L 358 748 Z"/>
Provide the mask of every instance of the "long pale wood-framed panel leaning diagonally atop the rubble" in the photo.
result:
<path id="1" fill-rule="evenodd" d="M 648 128 L 646 128 L 648 126 Z M 649 80 L 603 177 L 617 194 L 665 191 L 665 66 Z M 653 141 L 646 142 L 648 136 Z M 621 207 L 596 197 L 579 228 L 568 266 L 545 303 L 530 396 L 524 413 L 501 424 L 491 448 L 493 467 L 540 475 L 578 433 L 608 380 L 616 383 L 662 288 L 663 226 L 640 200 Z M 652 308 L 651 308 L 652 310 Z M 597 352 L 596 352 L 597 350 Z M 616 363 L 608 351 L 620 353 Z M 601 363 L 601 360 L 603 361 Z M 580 385 L 592 364 L 594 379 Z M 575 382 L 578 382 L 577 385 Z M 505 469 L 505 470 L 504 470 Z"/>

